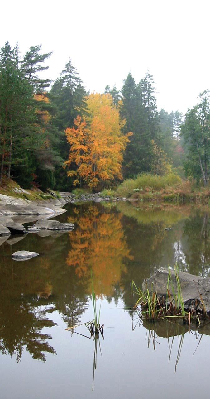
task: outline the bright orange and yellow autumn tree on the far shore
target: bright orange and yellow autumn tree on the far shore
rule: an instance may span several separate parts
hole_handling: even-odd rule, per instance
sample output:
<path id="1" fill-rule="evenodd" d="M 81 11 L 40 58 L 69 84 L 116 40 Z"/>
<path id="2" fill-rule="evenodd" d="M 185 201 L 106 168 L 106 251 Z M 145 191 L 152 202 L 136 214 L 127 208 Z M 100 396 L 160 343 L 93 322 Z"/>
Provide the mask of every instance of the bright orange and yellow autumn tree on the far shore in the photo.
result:
<path id="1" fill-rule="evenodd" d="M 70 144 L 66 164 L 76 164 L 77 169 L 68 172 L 75 186 L 83 181 L 93 188 L 101 181 L 122 180 L 123 153 L 131 133 L 122 134 L 125 120 L 120 120 L 110 94 L 90 94 L 87 109 L 86 120 L 78 116 L 75 126 L 65 130 Z"/>

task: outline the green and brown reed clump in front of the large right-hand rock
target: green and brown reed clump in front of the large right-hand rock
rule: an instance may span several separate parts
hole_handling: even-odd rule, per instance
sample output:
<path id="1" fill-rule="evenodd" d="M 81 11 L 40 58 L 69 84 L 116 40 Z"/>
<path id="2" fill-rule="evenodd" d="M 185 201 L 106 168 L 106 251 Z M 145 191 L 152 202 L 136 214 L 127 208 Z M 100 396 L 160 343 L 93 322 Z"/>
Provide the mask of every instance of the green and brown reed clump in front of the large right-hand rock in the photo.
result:
<path id="1" fill-rule="evenodd" d="M 175 265 L 175 277 L 176 286 L 173 285 L 171 271 L 169 269 L 167 292 L 166 295 L 162 296 L 161 298 L 157 295 L 157 292 L 153 290 L 153 284 L 151 285 L 151 290 L 146 287 L 146 291 L 143 292 L 132 280 L 132 293 L 135 293 L 139 296 L 134 308 L 137 310 L 140 318 L 146 318 L 150 321 L 156 321 L 163 318 L 183 318 L 183 321 L 188 322 L 190 325 L 190 320 L 196 319 L 200 326 L 200 320 L 209 318 L 200 292 L 198 291 L 200 295 L 200 302 L 196 301 L 193 308 L 186 310 L 184 308 L 183 295 L 179 280 L 179 270 L 177 265 Z M 169 284 L 171 285 L 172 292 L 169 292 Z"/>

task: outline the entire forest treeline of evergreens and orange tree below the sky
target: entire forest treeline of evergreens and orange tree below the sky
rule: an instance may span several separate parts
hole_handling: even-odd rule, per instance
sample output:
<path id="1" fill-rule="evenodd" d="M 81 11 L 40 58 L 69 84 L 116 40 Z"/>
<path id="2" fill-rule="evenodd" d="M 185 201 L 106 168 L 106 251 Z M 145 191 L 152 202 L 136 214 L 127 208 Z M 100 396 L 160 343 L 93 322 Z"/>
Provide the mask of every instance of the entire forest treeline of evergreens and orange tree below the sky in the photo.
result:
<path id="1" fill-rule="evenodd" d="M 71 59 L 55 80 L 41 45 L 21 58 L 18 45 L 0 51 L 0 184 L 23 188 L 101 190 L 148 172 L 171 172 L 208 182 L 210 99 L 183 115 L 157 111 L 149 71 L 138 83 L 131 73 L 120 91 L 89 93 Z"/>

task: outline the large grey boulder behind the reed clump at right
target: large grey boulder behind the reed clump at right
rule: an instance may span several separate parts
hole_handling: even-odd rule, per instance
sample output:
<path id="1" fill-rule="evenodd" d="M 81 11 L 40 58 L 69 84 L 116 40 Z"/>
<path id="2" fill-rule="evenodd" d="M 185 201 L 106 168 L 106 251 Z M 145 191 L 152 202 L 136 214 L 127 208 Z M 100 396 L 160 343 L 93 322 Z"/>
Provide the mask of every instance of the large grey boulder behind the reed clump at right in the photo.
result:
<path id="1" fill-rule="evenodd" d="M 166 296 L 167 282 L 168 282 L 169 271 L 167 269 L 157 270 L 149 279 L 145 280 L 142 284 L 143 290 L 146 290 L 146 286 L 151 287 L 153 283 L 153 290 L 157 291 L 159 297 Z M 177 293 L 176 287 L 176 275 L 171 270 L 171 278 L 174 286 L 175 293 Z M 200 304 L 200 294 L 206 306 L 206 311 L 210 313 L 210 277 L 194 276 L 189 273 L 179 271 L 179 281 L 184 301 L 184 307 L 186 309 L 191 308 L 197 301 Z M 198 292 L 199 291 L 199 292 Z M 171 283 L 169 284 L 169 292 L 172 294 Z"/>

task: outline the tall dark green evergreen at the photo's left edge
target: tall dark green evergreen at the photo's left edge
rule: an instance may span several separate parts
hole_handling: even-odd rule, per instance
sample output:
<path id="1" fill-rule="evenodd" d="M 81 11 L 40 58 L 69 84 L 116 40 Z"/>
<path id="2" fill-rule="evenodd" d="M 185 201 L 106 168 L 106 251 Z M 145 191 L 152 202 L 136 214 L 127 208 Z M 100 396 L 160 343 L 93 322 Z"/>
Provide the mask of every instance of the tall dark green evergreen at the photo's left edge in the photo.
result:
<path id="1" fill-rule="evenodd" d="M 5 168 L 10 177 L 11 164 L 21 164 L 37 144 L 30 128 L 34 120 L 33 89 L 19 67 L 18 47 L 12 50 L 7 42 L 0 51 L 0 184 Z"/>

